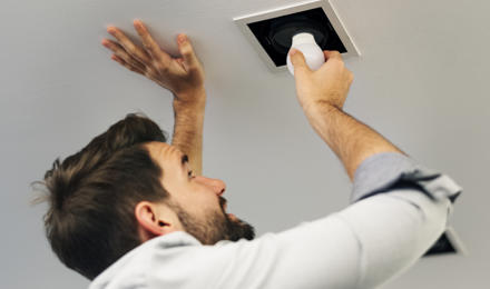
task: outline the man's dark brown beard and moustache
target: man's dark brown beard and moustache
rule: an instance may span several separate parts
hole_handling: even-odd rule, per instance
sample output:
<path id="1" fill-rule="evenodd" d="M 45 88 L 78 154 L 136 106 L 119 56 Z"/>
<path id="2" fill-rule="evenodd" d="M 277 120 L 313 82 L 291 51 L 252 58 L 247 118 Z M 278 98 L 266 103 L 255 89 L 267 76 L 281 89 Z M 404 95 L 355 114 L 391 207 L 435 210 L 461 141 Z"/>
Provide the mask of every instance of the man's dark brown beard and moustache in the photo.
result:
<path id="1" fill-rule="evenodd" d="M 203 245 L 215 245 L 222 240 L 237 241 L 242 238 L 253 240 L 255 229 L 249 223 L 241 220 L 232 220 L 225 213 L 224 205 L 226 199 L 219 197 L 222 212 L 207 212 L 204 220 L 196 218 L 180 206 L 174 203 L 171 207 L 186 232 L 194 236 Z"/>

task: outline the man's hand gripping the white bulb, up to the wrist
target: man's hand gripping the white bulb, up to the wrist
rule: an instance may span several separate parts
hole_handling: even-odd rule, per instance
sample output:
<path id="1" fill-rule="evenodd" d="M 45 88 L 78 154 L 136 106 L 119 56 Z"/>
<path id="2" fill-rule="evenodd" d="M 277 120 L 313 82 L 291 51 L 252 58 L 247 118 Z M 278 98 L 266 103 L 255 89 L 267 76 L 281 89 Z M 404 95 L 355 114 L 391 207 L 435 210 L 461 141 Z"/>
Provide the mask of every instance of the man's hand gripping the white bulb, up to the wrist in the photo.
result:
<path id="1" fill-rule="evenodd" d="M 297 99 L 306 113 L 317 104 L 329 104 L 342 110 L 354 79 L 339 51 L 325 50 L 323 53 L 326 62 L 315 71 L 308 68 L 301 51 L 291 56 Z"/>

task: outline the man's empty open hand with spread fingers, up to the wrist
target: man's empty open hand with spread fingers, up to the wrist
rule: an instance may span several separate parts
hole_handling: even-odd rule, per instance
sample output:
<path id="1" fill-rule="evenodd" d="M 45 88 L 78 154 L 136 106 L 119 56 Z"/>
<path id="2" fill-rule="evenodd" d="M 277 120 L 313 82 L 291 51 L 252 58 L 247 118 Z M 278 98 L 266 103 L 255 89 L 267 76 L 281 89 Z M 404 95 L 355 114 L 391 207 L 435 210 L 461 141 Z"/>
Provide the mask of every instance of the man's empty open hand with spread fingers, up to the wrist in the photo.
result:
<path id="1" fill-rule="evenodd" d="M 204 69 L 187 37 L 178 34 L 182 58 L 174 59 L 160 49 L 140 20 L 135 20 L 134 26 L 144 48 L 133 43 L 116 27 L 107 28 L 118 40 L 102 40 L 102 44 L 114 51 L 112 59 L 170 90 L 179 102 L 196 101 L 196 92 L 204 90 Z"/>

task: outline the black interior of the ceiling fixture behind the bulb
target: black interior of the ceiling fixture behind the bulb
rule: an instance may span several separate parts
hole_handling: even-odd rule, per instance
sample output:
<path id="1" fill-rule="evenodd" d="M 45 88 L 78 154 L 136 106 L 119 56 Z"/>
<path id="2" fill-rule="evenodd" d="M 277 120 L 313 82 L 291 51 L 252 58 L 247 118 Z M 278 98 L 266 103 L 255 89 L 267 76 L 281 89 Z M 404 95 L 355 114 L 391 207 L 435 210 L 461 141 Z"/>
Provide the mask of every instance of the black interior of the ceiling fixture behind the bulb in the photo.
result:
<path id="1" fill-rule="evenodd" d="M 347 52 L 322 8 L 266 19 L 247 24 L 276 67 L 286 64 L 292 39 L 312 33 L 322 50 Z"/>

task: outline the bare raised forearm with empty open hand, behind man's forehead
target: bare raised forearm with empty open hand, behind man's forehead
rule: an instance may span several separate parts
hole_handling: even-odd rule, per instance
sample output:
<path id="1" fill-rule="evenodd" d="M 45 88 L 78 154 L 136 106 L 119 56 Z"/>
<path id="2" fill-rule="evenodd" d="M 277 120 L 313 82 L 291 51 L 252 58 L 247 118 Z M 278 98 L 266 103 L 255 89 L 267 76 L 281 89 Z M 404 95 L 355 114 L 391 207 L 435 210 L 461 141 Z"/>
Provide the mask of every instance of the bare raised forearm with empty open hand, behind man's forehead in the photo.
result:
<path id="1" fill-rule="evenodd" d="M 112 26 L 107 31 L 118 41 L 104 39 L 102 44 L 114 51 L 114 60 L 174 93 L 175 126 L 171 144 L 187 155 L 194 172 L 202 175 L 206 106 L 203 66 L 185 34 L 177 38 L 182 57 L 173 58 L 160 49 L 140 20 L 135 20 L 134 26 L 144 48 L 133 43 L 122 31 Z"/>

